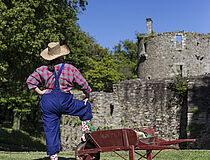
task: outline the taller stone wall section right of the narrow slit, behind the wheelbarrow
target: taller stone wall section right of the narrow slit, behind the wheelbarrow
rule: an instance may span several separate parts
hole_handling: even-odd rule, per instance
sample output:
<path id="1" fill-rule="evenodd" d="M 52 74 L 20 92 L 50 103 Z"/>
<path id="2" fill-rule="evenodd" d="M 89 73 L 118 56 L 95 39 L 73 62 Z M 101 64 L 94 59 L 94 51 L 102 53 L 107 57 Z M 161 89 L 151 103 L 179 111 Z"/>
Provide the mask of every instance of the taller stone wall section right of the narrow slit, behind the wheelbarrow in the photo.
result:
<path id="1" fill-rule="evenodd" d="M 180 99 L 170 79 L 129 80 L 114 85 L 125 127 L 150 126 L 167 140 L 179 138 Z"/>

